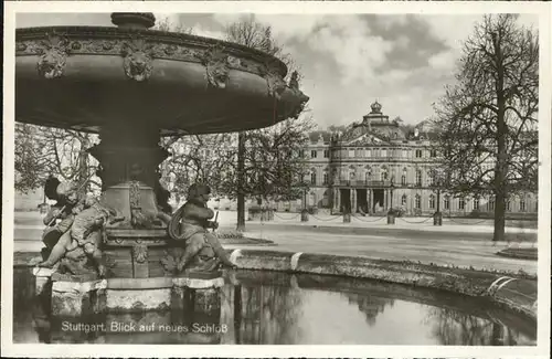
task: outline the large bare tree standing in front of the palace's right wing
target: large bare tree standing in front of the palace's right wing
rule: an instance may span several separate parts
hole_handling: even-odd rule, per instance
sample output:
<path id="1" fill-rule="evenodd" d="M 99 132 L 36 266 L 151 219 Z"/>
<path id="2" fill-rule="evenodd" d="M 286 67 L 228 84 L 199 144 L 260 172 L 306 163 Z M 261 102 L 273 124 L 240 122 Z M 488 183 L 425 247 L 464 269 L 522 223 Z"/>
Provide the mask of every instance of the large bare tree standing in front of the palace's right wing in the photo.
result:
<path id="1" fill-rule="evenodd" d="M 493 241 L 502 241 L 508 198 L 537 190 L 538 35 L 514 14 L 485 17 L 465 42 L 456 80 L 436 104 L 446 187 L 493 196 Z"/>

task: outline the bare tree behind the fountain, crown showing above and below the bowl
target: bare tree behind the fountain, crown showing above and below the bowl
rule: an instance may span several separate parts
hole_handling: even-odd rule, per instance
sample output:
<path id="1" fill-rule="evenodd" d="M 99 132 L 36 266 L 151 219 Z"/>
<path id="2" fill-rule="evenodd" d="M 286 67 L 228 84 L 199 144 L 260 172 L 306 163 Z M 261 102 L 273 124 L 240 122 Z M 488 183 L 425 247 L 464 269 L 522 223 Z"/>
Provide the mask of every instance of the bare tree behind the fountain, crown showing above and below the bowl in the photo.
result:
<path id="1" fill-rule="evenodd" d="M 193 33 L 169 19 L 157 30 Z M 266 52 L 288 67 L 287 78 L 297 70 L 288 53 L 273 38 L 272 28 L 244 15 L 224 29 L 227 41 Z M 298 81 L 300 74 L 296 76 Z M 298 148 L 308 139 L 312 119 L 287 119 L 273 127 L 226 135 L 188 136 L 163 140 L 172 156 L 163 163 L 163 175 L 171 177 L 177 196 L 184 194 L 193 181 L 201 180 L 217 196 L 237 199 L 237 230 L 245 229 L 245 197 L 258 200 L 297 199 L 304 191 L 306 163 Z M 222 144 L 222 146 L 221 146 Z M 184 148 L 185 150 L 182 150 Z M 219 149 L 224 148 L 223 151 Z M 209 152 L 209 156 L 205 154 Z"/>

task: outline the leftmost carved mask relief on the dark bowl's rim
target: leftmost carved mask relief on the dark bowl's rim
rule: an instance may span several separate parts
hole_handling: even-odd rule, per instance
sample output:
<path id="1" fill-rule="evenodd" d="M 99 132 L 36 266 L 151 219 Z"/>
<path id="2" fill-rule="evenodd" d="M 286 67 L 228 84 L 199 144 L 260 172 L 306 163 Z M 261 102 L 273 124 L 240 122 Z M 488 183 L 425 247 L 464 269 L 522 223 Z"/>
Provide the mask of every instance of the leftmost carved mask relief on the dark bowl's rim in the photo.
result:
<path id="1" fill-rule="evenodd" d="M 68 40 L 55 32 L 46 34 L 47 40 L 41 41 L 35 50 L 39 54 L 36 70 L 44 78 L 57 78 L 63 75 L 67 55 L 70 54 Z"/>

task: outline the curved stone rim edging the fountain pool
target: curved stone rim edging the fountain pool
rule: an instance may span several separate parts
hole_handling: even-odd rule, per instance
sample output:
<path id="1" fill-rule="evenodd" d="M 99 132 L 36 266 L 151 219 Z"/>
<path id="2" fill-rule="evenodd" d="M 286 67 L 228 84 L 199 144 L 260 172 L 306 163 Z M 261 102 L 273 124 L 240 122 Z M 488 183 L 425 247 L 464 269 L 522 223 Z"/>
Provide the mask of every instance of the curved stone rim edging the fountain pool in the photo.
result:
<path id="1" fill-rule="evenodd" d="M 519 298 L 497 297 L 489 293 L 491 284 L 499 278 L 535 282 L 537 276 L 500 271 L 486 271 L 424 264 L 412 261 L 390 261 L 367 256 L 344 256 L 264 249 L 226 250 L 240 270 L 284 272 L 288 274 L 314 274 L 348 278 L 371 279 L 402 284 L 420 288 L 445 291 L 469 297 L 487 298 L 491 303 L 514 314 L 537 320 L 537 302 L 523 304 Z M 31 253 L 29 253 L 31 254 Z M 35 253 L 39 255 L 39 253 Z M 33 266 L 17 263 L 14 267 Z M 144 278 L 153 281 L 155 278 Z M 113 281 L 110 278 L 109 281 Z M 161 279 L 157 279 L 161 281 Z M 497 286 L 496 286 L 497 287 Z"/>

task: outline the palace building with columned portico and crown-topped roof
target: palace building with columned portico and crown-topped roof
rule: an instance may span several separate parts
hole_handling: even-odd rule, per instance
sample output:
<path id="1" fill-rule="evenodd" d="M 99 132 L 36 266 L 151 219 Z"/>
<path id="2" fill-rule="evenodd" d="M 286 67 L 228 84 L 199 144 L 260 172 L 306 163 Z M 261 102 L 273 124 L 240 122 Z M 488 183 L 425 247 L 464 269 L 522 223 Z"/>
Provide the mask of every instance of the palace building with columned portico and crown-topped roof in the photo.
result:
<path id="1" fill-rule="evenodd" d="M 432 149 L 435 136 L 429 122 L 403 126 L 400 119 L 390 120 L 375 102 L 360 123 L 343 133 L 312 134 L 305 150 L 310 168 L 309 193 L 297 203 L 278 203 L 277 209 L 296 211 L 306 205 L 331 209 L 333 213 L 381 214 L 393 208 L 406 215 L 428 215 L 439 209 L 445 215 L 492 214 L 492 198 L 455 198 L 437 192 L 432 176 L 438 161 Z M 535 213 L 537 196 L 511 198 L 507 211 Z"/>

